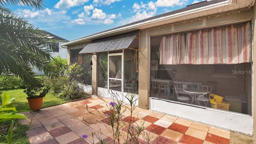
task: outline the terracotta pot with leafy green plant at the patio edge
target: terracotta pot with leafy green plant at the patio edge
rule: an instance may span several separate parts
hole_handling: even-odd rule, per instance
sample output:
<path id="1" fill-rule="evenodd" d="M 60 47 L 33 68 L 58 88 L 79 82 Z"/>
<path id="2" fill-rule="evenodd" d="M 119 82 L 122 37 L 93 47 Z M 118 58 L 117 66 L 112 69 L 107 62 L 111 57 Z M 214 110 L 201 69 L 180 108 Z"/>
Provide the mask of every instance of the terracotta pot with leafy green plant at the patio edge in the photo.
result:
<path id="1" fill-rule="evenodd" d="M 36 88 L 26 87 L 24 92 L 27 94 L 28 105 L 31 110 L 40 110 L 44 96 L 48 93 L 49 88 L 40 85 Z"/>

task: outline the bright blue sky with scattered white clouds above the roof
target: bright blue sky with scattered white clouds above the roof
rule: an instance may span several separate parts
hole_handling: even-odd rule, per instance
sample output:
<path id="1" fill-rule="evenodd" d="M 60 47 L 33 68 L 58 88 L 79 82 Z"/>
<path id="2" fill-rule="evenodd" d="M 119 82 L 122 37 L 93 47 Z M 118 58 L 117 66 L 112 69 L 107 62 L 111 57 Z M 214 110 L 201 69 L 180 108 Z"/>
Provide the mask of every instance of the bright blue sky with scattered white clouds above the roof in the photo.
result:
<path id="1" fill-rule="evenodd" d="M 41 30 L 75 40 L 186 7 L 197 0 L 44 0 L 44 10 L 15 6 L 12 11 Z"/>

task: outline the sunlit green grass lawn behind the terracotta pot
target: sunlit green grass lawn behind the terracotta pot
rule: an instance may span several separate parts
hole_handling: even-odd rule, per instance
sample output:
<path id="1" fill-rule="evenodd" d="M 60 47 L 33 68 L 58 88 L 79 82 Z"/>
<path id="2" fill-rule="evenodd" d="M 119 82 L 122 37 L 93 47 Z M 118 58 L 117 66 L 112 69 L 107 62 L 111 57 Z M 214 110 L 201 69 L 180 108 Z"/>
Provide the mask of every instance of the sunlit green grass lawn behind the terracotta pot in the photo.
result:
<path id="1" fill-rule="evenodd" d="M 27 95 L 23 92 L 23 89 L 1 90 L 1 92 L 2 91 L 6 91 L 7 94 L 16 98 L 15 105 L 17 110 L 30 110 L 28 106 L 28 100 L 26 99 Z M 54 94 L 46 94 L 43 99 L 42 108 L 56 106 L 59 104 L 64 104 L 66 102 L 68 102 L 68 100 L 58 98 L 57 96 L 54 96 Z"/>

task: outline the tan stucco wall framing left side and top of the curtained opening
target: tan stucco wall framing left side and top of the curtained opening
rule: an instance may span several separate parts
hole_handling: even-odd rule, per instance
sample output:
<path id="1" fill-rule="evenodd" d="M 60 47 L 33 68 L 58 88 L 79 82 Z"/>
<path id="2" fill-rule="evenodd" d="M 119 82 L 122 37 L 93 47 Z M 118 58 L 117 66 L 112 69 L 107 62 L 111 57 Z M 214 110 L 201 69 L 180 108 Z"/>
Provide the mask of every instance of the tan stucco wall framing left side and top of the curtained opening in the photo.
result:
<path id="1" fill-rule="evenodd" d="M 216 25 L 221 24 L 229 24 L 233 22 L 241 22 L 245 20 L 250 20 L 253 18 L 253 8 L 251 9 L 243 9 L 240 10 L 240 13 L 238 11 L 230 12 L 228 15 L 227 13 L 219 14 L 218 17 L 204 17 L 199 20 L 193 20 L 192 22 L 178 22 L 173 24 L 168 24 L 165 26 L 155 27 L 155 28 L 149 28 L 145 30 L 140 31 L 140 50 L 143 49 L 146 46 L 146 50 L 143 49 L 140 51 L 140 70 L 139 73 L 143 73 L 143 76 L 139 76 L 139 107 L 143 108 L 143 105 L 148 105 L 148 103 L 145 103 L 148 97 L 148 94 L 146 94 L 146 90 L 149 92 L 149 86 L 148 86 L 148 60 L 149 57 L 149 51 L 150 51 L 150 36 L 156 36 L 161 34 L 170 34 L 175 32 L 182 32 L 182 31 L 189 31 L 189 30 L 195 30 L 200 28 L 206 28 L 206 27 L 212 27 Z M 253 27 L 253 26 L 252 26 Z M 146 52 L 148 54 L 146 54 Z M 147 74 L 147 75 L 146 75 Z M 147 77 L 145 77 L 145 75 Z"/>

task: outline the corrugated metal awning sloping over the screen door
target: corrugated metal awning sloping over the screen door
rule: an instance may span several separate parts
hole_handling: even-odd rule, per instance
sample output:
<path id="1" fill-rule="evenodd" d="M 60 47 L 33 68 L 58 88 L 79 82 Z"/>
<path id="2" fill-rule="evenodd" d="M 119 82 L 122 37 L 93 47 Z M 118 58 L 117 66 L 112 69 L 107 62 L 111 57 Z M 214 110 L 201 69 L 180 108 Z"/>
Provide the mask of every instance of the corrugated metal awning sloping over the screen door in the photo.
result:
<path id="1" fill-rule="evenodd" d="M 138 32 L 139 31 L 136 30 L 124 34 L 118 34 L 116 36 L 92 40 L 90 44 L 87 44 L 79 52 L 79 54 L 92 54 L 95 52 L 108 52 L 126 49 L 128 48 L 128 46 L 130 46 L 131 42 L 138 35 Z"/>

